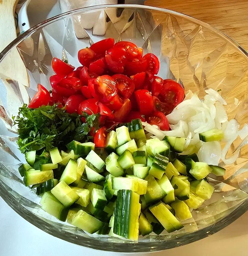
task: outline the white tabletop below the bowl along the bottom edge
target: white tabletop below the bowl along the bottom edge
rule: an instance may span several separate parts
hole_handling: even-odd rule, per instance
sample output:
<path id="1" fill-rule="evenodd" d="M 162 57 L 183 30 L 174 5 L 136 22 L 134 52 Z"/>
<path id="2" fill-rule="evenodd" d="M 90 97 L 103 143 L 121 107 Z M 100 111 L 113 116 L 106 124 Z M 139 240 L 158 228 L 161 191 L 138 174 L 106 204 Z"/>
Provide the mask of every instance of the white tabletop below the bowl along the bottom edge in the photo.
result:
<path id="1" fill-rule="evenodd" d="M 0 256 L 123 256 L 65 242 L 39 230 L 0 198 Z M 142 254 L 148 255 L 148 254 Z M 152 256 L 247 256 L 248 212 L 222 231 L 195 243 Z"/>

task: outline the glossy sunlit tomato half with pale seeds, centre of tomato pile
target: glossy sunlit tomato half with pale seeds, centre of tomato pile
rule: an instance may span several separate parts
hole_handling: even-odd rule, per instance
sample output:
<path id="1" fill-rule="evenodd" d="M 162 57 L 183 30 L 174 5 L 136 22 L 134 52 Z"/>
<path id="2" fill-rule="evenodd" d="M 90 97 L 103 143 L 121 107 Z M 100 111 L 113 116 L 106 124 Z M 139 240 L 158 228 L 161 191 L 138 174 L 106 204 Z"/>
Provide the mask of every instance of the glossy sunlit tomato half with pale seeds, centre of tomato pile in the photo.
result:
<path id="1" fill-rule="evenodd" d="M 98 76 L 96 78 L 95 92 L 101 102 L 110 102 L 117 94 L 115 80 L 108 75 Z"/>

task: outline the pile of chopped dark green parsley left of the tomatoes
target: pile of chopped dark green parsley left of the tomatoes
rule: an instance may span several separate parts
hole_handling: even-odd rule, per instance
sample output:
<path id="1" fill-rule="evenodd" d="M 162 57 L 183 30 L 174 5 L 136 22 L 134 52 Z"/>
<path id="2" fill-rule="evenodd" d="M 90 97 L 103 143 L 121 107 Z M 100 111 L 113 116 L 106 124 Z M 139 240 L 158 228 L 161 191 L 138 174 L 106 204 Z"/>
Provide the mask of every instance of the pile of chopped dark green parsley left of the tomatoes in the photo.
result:
<path id="1" fill-rule="evenodd" d="M 82 117 L 85 117 L 85 122 Z M 72 140 L 91 139 L 88 133 L 92 127 L 99 129 L 98 114 L 68 114 L 65 108 L 56 105 L 32 109 L 24 104 L 13 120 L 18 125 L 17 144 L 22 153 L 41 149 L 48 151 L 53 147 L 63 150 Z"/>

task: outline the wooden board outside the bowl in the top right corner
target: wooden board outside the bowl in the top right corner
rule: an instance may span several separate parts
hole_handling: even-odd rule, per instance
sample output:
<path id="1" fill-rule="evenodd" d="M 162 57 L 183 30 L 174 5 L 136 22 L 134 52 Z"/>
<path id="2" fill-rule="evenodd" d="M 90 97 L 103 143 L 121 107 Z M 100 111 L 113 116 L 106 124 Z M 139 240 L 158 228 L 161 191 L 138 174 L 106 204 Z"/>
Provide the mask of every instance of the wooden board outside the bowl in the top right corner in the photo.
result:
<path id="1" fill-rule="evenodd" d="M 248 0 L 147 0 L 145 5 L 181 12 L 204 21 L 248 51 Z"/>

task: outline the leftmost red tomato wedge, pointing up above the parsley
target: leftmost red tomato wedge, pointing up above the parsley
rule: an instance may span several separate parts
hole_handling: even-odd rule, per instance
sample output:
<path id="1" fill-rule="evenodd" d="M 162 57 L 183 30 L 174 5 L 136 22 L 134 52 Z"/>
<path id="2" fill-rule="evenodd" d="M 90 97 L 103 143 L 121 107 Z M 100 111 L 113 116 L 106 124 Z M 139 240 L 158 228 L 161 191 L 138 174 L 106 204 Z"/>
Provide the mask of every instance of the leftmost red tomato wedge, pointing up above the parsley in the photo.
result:
<path id="1" fill-rule="evenodd" d="M 47 105 L 50 102 L 51 96 L 48 90 L 41 84 L 37 85 L 38 92 L 34 95 L 31 102 L 29 103 L 29 108 L 39 108 L 42 105 Z"/>

